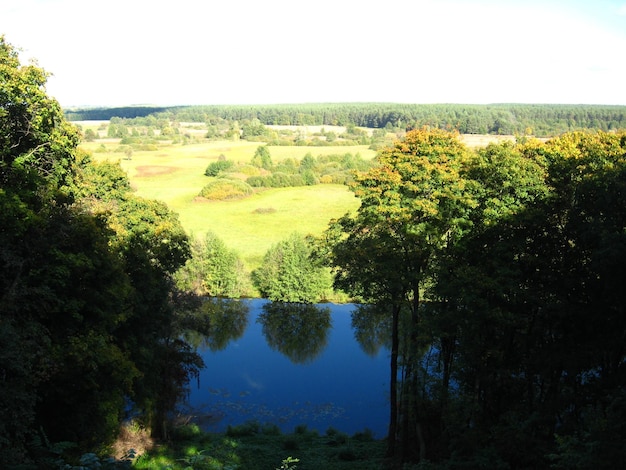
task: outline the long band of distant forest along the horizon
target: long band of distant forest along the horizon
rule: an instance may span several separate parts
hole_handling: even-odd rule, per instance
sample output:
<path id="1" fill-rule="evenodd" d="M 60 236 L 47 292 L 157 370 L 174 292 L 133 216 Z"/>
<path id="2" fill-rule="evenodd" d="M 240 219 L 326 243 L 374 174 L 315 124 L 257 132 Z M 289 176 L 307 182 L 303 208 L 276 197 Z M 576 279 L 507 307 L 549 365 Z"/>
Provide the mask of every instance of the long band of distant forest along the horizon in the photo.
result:
<path id="1" fill-rule="evenodd" d="M 414 129 L 424 126 L 461 134 L 551 137 L 582 129 L 626 128 L 626 106 L 554 104 L 319 103 L 68 109 L 70 121 L 154 115 L 179 122 L 258 119 L 264 125 L 355 125 Z"/>

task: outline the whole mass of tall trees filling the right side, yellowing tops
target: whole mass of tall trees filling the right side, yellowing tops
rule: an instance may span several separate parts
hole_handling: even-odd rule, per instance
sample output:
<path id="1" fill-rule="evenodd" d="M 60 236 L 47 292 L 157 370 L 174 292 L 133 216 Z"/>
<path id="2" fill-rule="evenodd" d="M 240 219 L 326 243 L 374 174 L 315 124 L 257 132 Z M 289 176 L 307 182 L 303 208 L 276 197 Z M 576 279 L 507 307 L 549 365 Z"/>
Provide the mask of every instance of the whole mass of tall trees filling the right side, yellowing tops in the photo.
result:
<path id="1" fill-rule="evenodd" d="M 468 154 L 413 132 L 327 233 L 336 284 L 392 314 L 390 455 L 623 466 L 624 133 Z"/>

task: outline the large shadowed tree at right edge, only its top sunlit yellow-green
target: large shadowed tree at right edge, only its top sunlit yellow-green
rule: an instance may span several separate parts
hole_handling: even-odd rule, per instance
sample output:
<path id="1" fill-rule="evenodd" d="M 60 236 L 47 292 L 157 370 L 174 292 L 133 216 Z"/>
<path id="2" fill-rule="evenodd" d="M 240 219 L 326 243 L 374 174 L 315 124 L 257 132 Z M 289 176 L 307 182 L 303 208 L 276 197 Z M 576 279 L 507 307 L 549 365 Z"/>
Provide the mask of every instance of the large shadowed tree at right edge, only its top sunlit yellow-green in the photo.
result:
<path id="1" fill-rule="evenodd" d="M 623 464 L 624 430 L 608 416 L 623 415 L 624 142 L 571 133 L 481 152 L 508 163 L 475 173 L 484 223 L 437 283 L 457 312 L 463 411 L 449 430 L 460 458 L 489 449 L 519 468 Z"/>

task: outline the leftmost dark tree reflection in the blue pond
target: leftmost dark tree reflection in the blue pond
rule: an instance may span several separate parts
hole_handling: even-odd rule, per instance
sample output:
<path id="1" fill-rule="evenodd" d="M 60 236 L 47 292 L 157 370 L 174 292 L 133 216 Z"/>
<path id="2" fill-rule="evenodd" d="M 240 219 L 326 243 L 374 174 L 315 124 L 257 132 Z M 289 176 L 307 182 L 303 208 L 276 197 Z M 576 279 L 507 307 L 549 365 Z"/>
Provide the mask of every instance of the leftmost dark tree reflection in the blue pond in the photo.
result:
<path id="1" fill-rule="evenodd" d="M 204 347 L 213 352 L 225 349 L 231 341 L 241 338 L 248 326 L 250 307 L 246 302 L 208 298 L 199 307 L 198 321 L 208 323 L 209 334 L 203 329 L 189 330 L 185 339 L 195 348 Z"/>

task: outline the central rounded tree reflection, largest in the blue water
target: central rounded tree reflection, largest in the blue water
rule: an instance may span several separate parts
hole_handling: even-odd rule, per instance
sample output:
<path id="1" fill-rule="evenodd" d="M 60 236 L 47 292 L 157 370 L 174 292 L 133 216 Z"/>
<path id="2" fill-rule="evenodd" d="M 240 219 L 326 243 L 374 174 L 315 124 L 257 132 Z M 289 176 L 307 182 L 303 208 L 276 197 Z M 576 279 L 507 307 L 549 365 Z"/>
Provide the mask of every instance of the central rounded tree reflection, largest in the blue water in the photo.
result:
<path id="1" fill-rule="evenodd" d="M 294 364 L 315 359 L 328 343 L 330 309 L 311 304 L 271 302 L 263 305 L 257 322 L 267 344 Z"/>

